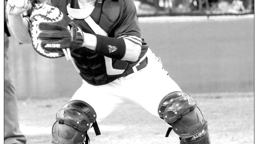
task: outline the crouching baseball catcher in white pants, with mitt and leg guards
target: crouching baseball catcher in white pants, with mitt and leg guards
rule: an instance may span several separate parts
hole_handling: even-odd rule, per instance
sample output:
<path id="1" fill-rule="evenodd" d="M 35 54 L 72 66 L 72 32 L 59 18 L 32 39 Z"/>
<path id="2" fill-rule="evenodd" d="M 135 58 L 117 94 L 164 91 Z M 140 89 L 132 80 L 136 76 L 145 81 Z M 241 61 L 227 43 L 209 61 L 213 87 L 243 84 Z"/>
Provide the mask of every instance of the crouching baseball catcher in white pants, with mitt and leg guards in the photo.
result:
<path id="1" fill-rule="evenodd" d="M 51 0 L 38 4 L 30 18 L 21 17 L 27 3 L 20 1 L 9 0 L 7 8 L 17 39 L 32 43 L 44 57 L 65 56 L 82 78 L 56 114 L 54 144 L 88 143 L 88 129 L 100 135 L 97 122 L 122 106 L 123 99 L 162 118 L 171 126 L 166 136 L 173 130 L 180 144 L 210 144 L 196 100 L 170 78 L 141 38 L 133 0 Z"/>

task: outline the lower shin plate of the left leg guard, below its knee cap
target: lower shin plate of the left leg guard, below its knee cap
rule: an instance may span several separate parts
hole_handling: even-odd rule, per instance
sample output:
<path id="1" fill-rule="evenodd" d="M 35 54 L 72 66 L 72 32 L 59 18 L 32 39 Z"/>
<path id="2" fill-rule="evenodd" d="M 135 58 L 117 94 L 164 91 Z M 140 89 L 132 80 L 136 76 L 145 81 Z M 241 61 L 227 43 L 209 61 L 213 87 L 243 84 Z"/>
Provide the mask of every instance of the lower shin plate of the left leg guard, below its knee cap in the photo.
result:
<path id="1" fill-rule="evenodd" d="M 53 144 L 82 144 L 87 132 L 74 129 L 72 126 L 59 124 L 56 121 L 52 128 Z"/>

